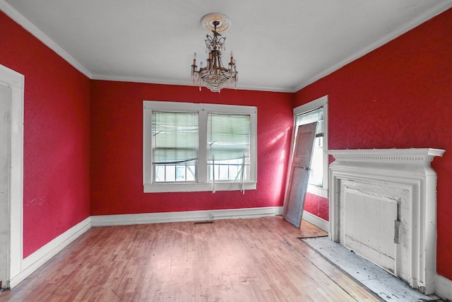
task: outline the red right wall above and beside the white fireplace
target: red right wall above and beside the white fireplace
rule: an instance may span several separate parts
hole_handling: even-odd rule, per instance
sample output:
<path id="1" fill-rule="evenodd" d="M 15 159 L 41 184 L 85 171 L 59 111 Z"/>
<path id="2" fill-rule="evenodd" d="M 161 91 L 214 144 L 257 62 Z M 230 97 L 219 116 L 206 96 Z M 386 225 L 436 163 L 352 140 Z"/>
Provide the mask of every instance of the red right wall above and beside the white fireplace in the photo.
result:
<path id="1" fill-rule="evenodd" d="M 452 9 L 296 93 L 328 95 L 329 149 L 446 149 L 438 174 L 437 270 L 452 279 Z"/>

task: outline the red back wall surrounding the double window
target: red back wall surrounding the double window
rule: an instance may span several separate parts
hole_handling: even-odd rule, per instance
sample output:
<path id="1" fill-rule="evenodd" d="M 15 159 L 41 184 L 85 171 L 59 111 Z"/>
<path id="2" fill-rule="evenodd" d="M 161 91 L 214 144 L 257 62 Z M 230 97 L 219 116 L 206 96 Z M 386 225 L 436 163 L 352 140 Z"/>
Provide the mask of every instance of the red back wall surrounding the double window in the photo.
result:
<path id="1" fill-rule="evenodd" d="M 92 81 L 91 214 L 283 206 L 292 134 L 292 93 Z M 143 100 L 258 108 L 257 190 L 143 193 Z"/>

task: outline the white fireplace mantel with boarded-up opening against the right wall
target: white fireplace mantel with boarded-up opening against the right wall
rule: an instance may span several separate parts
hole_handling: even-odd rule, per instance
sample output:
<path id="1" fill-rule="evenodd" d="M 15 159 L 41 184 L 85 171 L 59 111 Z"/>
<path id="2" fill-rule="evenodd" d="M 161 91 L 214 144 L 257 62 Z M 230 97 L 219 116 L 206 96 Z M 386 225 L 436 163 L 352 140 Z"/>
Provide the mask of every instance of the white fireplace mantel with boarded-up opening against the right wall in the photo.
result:
<path id="1" fill-rule="evenodd" d="M 366 211 L 362 210 L 359 217 L 354 218 L 352 211 L 361 207 L 390 211 L 395 220 L 382 220 L 381 226 L 386 233 L 393 232 L 393 238 L 386 238 L 386 243 L 391 240 L 393 243 L 389 244 L 386 253 L 390 256 L 381 260 L 382 266 L 407 281 L 412 288 L 433 294 L 436 279 L 436 173 L 430 163 L 435 156 L 442 156 L 444 150 L 357 149 L 328 153 L 335 158 L 330 165 L 331 240 L 355 250 L 355 238 L 364 235 L 356 233 L 359 226 L 366 226 L 367 217 L 363 217 Z M 364 202 L 368 205 L 364 206 Z M 381 217 L 388 216 L 380 214 Z M 373 213 L 369 221 L 376 221 L 374 216 L 377 215 Z M 355 223 L 355 219 L 361 221 Z M 364 257 L 370 260 L 372 257 L 386 257 L 385 252 L 367 246 L 363 248 L 366 249 L 370 254 Z"/>

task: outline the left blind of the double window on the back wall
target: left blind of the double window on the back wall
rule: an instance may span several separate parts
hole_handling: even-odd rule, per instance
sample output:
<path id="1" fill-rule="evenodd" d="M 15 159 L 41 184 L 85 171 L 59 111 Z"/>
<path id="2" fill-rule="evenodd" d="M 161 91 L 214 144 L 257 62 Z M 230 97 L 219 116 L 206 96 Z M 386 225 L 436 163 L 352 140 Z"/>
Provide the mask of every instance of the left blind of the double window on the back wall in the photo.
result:
<path id="1" fill-rule="evenodd" d="M 198 157 L 198 113 L 153 111 L 153 164 Z"/>

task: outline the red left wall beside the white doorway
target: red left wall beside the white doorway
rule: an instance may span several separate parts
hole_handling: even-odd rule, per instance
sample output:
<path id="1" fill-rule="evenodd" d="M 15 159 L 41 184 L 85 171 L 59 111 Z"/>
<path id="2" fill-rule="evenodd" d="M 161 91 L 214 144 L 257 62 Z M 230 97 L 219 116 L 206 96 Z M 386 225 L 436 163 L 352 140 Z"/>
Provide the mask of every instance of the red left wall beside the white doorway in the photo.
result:
<path id="1" fill-rule="evenodd" d="M 25 76 L 24 257 L 90 216 L 90 79 L 0 11 L 0 64 Z"/>

